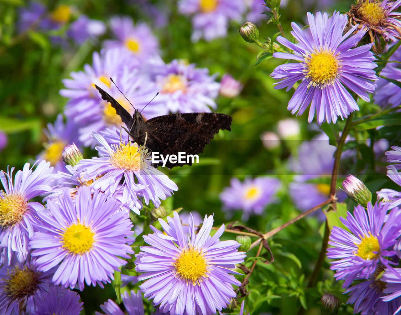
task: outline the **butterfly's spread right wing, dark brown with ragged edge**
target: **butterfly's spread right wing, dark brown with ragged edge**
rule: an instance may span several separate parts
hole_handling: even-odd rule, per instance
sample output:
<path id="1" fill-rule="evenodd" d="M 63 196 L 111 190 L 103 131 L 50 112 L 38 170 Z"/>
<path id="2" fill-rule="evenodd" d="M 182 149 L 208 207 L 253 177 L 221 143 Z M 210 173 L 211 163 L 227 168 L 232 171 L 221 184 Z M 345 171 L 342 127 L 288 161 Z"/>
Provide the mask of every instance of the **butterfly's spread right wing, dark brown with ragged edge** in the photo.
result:
<path id="1" fill-rule="evenodd" d="M 146 122 L 149 133 L 158 140 L 160 154 L 202 153 L 220 129 L 231 130 L 229 115 L 221 113 L 182 113 L 154 117 Z M 166 163 L 168 168 L 192 163 Z"/>

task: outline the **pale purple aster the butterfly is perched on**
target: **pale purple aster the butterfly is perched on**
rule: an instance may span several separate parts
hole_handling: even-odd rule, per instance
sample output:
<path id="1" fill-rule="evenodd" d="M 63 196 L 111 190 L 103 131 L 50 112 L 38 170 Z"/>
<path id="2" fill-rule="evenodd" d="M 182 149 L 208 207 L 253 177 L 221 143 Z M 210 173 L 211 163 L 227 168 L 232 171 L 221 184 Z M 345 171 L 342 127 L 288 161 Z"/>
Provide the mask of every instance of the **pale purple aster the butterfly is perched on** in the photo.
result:
<path id="1" fill-rule="evenodd" d="M 110 146 L 95 132 L 93 138 L 101 145 L 96 149 L 104 157 L 81 160 L 77 164 L 77 172 L 86 172 L 85 178 L 97 178 L 93 183 L 94 189 L 114 192 L 118 188 L 125 200 L 136 200 L 137 196 L 142 196 L 146 204 L 151 200 L 156 208 L 160 206 L 160 199 L 164 200 L 178 190 L 168 176 L 152 166 L 150 154 L 142 145 L 122 142 Z"/>

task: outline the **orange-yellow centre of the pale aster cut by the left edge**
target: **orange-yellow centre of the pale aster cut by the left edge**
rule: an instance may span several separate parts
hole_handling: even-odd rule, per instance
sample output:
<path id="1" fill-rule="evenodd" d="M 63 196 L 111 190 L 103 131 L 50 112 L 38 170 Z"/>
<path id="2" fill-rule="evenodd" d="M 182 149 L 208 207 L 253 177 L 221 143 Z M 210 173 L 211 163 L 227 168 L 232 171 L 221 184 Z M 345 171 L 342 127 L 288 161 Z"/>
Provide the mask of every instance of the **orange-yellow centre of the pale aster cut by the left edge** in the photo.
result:
<path id="1" fill-rule="evenodd" d="M 19 192 L 0 197 L 0 226 L 13 226 L 22 220 L 26 211 L 26 200 Z"/>

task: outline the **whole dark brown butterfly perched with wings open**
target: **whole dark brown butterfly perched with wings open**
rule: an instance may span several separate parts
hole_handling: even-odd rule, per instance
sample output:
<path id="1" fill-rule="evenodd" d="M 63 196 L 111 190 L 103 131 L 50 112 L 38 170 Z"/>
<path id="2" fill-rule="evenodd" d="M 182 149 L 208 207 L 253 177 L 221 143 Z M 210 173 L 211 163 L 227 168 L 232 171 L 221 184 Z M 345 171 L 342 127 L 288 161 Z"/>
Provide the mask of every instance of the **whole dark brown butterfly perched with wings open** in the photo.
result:
<path id="1" fill-rule="evenodd" d="M 101 97 L 108 101 L 115 109 L 121 120 L 130 130 L 132 140 L 140 145 L 145 143 L 151 151 L 159 152 L 166 156 L 176 155 L 178 152 L 186 154 L 202 153 L 205 145 L 210 143 L 215 133 L 220 129 L 231 131 L 230 125 L 233 119 L 229 115 L 221 113 L 182 113 L 154 117 L 145 120 L 138 109 L 131 117 L 130 113 L 122 107 L 106 91 L 95 85 Z M 160 163 L 161 164 L 161 163 Z M 192 163 L 175 163 L 167 161 L 165 166 L 183 166 Z"/>

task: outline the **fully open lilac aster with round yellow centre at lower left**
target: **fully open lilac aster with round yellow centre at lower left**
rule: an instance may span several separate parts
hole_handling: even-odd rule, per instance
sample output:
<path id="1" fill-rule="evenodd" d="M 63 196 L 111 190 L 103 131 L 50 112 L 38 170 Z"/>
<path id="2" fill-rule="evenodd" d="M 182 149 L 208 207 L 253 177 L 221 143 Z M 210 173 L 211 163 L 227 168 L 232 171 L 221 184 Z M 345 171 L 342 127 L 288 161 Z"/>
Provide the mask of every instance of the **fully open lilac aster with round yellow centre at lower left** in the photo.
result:
<path id="1" fill-rule="evenodd" d="M 59 196 L 58 202 L 47 201 L 47 210 L 38 211 L 41 232 L 30 240 L 32 256 L 41 271 L 55 268 L 52 281 L 73 288 L 78 282 L 82 291 L 87 285 L 113 280 L 113 272 L 127 262 L 133 251 L 127 245 L 132 223 L 119 202 L 101 192 L 81 187 L 73 199 Z M 119 258 L 122 257 L 122 258 Z"/>

